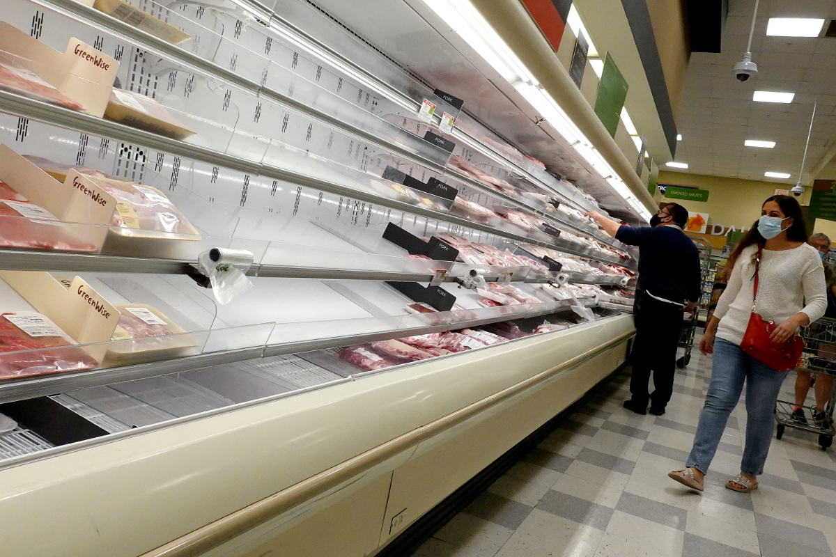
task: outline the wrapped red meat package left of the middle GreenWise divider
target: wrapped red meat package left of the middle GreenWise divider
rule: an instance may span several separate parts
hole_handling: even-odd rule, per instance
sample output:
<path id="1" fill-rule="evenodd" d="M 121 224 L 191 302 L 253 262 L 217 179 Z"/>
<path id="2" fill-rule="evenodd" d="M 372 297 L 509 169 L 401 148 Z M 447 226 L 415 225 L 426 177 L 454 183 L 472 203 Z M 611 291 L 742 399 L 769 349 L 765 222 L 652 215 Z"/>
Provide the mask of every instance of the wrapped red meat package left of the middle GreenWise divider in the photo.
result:
<path id="1" fill-rule="evenodd" d="M 72 225 L 48 210 L 13 200 L 0 200 L 0 246 L 85 253 L 99 249 L 80 240 Z"/>

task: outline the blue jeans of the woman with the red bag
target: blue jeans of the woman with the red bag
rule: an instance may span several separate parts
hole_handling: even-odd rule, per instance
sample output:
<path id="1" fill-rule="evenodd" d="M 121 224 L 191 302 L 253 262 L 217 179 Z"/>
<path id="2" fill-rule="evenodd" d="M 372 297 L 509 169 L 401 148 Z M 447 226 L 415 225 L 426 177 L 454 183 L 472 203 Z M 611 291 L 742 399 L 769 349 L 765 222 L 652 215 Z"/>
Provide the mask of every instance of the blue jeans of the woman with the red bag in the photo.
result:
<path id="1" fill-rule="evenodd" d="M 706 473 L 746 381 L 746 447 L 740 469 L 752 476 L 760 475 L 772 443 L 775 402 L 787 373 L 758 362 L 737 344 L 721 338 L 714 342 L 713 360 L 706 404 L 686 466 Z"/>

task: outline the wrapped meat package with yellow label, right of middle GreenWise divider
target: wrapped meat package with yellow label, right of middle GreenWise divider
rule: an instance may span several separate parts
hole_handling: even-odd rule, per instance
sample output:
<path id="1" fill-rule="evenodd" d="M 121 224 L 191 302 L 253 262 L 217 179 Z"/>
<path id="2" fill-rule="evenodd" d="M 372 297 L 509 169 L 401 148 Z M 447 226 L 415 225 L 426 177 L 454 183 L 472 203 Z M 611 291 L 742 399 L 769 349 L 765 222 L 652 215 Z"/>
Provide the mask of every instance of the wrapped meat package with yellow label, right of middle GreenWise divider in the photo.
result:
<path id="1" fill-rule="evenodd" d="M 116 198 L 111 226 L 195 235 L 186 217 L 159 190 L 143 185 L 90 176 L 102 190 Z"/>

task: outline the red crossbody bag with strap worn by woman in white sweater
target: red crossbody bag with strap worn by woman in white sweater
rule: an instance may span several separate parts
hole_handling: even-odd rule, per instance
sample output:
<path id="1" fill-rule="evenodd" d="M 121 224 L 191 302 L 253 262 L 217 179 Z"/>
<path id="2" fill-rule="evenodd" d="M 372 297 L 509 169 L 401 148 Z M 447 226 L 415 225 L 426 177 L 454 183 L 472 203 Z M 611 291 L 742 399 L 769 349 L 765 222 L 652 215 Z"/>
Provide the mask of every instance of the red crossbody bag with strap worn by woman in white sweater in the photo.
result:
<path id="1" fill-rule="evenodd" d="M 769 340 L 769 336 L 777 327 L 775 322 L 763 321 L 757 313 L 757 276 L 761 268 L 761 252 L 763 246 L 757 248 L 755 260 L 755 291 L 752 296 L 752 315 L 749 316 L 749 324 L 746 333 L 740 343 L 740 348 L 758 362 L 778 372 L 788 372 L 798 367 L 798 360 L 801 359 L 801 352 L 804 350 L 804 341 L 798 335 L 793 335 L 787 342 L 777 344 Z"/>

